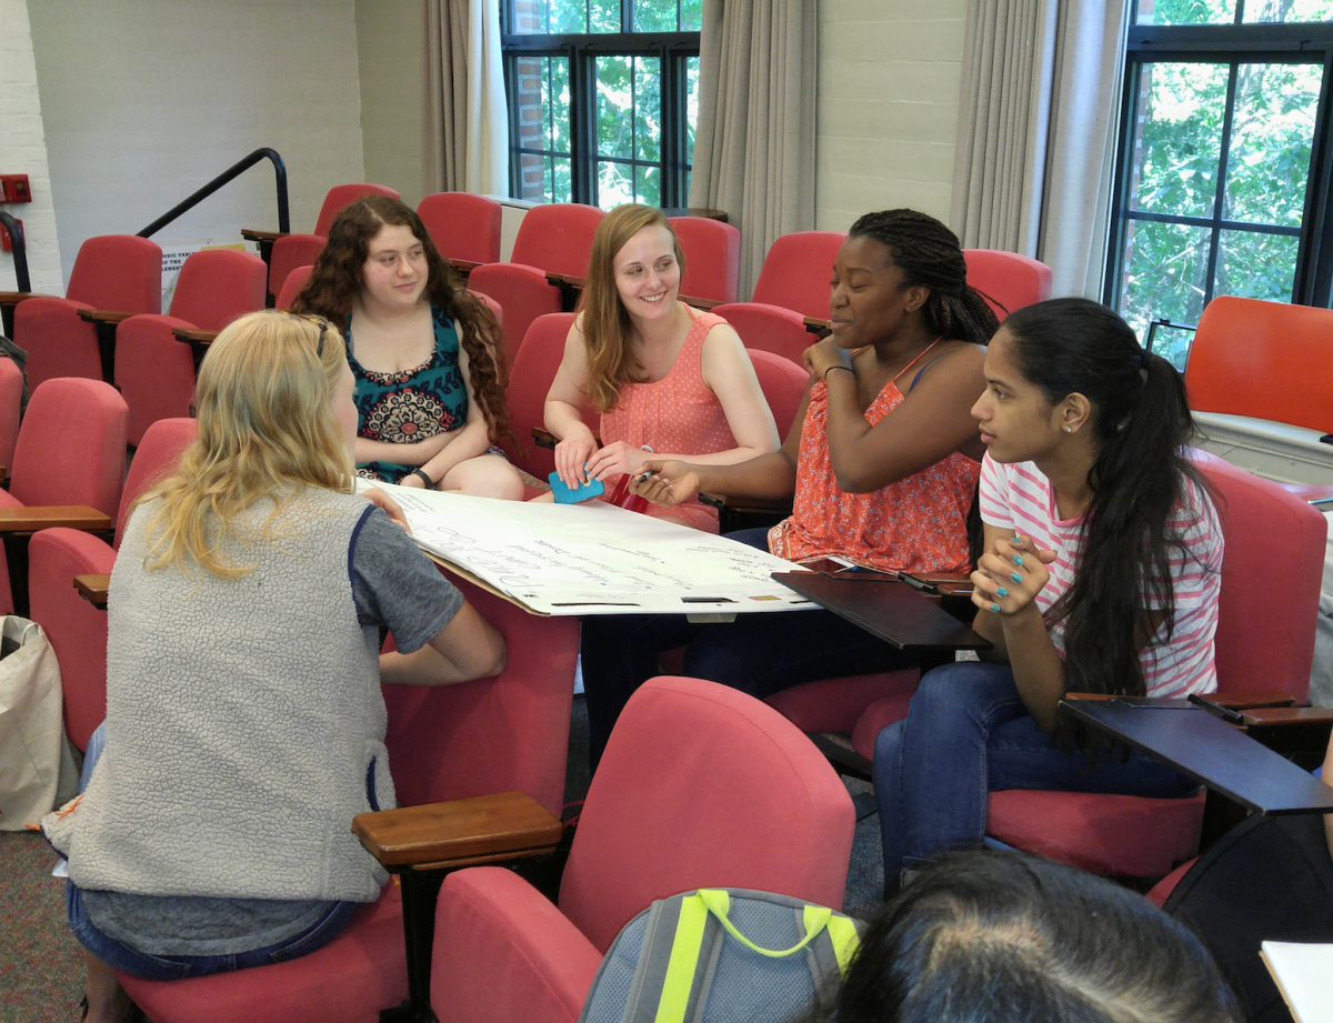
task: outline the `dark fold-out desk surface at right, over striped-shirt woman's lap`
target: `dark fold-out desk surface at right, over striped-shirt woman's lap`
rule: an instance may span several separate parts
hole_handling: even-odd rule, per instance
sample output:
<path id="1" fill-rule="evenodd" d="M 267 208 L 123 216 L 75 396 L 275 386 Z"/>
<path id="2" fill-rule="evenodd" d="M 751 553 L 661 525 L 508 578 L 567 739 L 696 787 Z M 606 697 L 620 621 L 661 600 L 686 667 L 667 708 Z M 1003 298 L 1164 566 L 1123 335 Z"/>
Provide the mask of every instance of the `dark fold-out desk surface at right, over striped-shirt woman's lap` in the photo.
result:
<path id="1" fill-rule="evenodd" d="M 1333 811 L 1333 789 L 1184 699 L 1064 699 L 1078 722 L 1261 814 Z"/>

